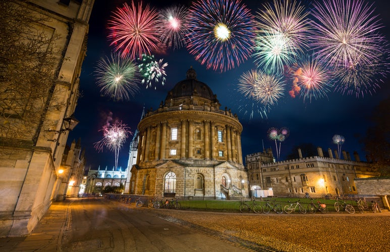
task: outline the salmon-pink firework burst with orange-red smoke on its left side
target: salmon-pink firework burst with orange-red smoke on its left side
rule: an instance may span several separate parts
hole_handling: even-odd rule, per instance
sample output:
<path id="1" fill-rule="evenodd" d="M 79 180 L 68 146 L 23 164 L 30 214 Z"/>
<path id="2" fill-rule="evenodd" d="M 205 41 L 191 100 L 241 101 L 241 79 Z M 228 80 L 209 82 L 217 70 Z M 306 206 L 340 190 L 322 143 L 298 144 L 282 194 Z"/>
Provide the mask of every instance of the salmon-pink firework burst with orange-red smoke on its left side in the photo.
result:
<path id="1" fill-rule="evenodd" d="M 311 102 L 312 99 L 327 97 L 326 93 L 330 91 L 332 86 L 331 76 L 327 68 L 310 56 L 300 60 L 296 68 L 297 70 L 292 75 L 292 90 L 298 91 L 300 96 L 303 97 L 303 101 L 308 99 Z"/>

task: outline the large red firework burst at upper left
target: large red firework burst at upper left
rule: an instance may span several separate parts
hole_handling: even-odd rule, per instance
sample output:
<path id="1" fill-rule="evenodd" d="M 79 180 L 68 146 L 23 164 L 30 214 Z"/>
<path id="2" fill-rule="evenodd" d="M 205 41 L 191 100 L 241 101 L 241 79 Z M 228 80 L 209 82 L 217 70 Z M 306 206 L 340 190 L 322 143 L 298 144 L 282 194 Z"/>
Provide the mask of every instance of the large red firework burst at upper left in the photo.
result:
<path id="1" fill-rule="evenodd" d="M 142 7 L 142 1 L 137 8 L 134 2 L 131 6 L 125 3 L 108 21 L 110 45 L 121 51 L 122 56 L 129 55 L 131 59 L 156 50 L 160 36 L 157 17 L 157 11 L 149 5 Z"/>

